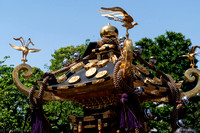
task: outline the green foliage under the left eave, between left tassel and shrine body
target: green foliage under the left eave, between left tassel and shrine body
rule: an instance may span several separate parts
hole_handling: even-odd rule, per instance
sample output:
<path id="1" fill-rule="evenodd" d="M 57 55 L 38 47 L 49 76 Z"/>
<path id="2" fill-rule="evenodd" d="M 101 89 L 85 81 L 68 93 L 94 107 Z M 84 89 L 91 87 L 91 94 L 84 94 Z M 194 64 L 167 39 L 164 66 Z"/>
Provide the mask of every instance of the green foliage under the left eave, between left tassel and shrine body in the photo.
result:
<path id="1" fill-rule="evenodd" d="M 47 102 L 43 107 L 52 132 L 70 132 L 69 115 L 83 115 L 82 106 L 69 101 Z"/>

